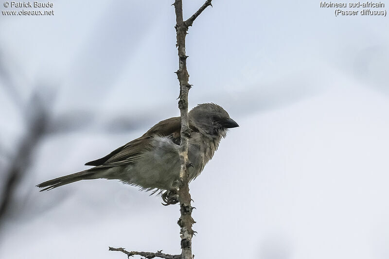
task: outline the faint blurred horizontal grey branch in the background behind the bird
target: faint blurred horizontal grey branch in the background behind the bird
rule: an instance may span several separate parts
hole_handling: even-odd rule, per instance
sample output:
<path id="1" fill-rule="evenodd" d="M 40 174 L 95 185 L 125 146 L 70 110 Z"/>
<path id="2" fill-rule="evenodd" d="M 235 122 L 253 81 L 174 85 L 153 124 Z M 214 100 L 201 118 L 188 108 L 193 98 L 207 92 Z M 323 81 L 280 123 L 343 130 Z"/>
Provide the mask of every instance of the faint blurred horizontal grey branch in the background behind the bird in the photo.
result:
<path id="1" fill-rule="evenodd" d="M 207 92 L 198 98 L 202 100 L 216 100 L 215 103 L 228 103 L 230 107 L 234 108 L 235 113 L 247 116 L 258 111 L 263 112 L 293 104 L 309 98 L 321 90 L 319 87 L 310 86 L 310 82 L 313 79 L 309 77 L 300 80 L 299 84 L 289 82 L 288 85 L 284 83 L 285 80 L 278 79 L 277 82 L 272 84 L 253 85 L 233 93 L 228 91 L 223 92 L 223 94 Z M 280 85 L 283 86 L 280 87 Z M 293 89 L 293 91 L 290 89 Z M 154 109 L 158 111 L 172 111 L 171 105 L 155 105 Z M 101 124 L 96 124 L 95 118 L 96 114 L 93 111 L 68 110 L 66 113 L 51 118 L 45 134 L 69 134 L 90 130 L 90 127 L 94 127 L 93 129 L 98 133 L 127 133 L 128 131 L 143 129 L 160 119 L 159 113 L 150 113 L 147 109 L 143 112 L 137 111 L 134 115 L 115 111 L 104 119 Z"/>

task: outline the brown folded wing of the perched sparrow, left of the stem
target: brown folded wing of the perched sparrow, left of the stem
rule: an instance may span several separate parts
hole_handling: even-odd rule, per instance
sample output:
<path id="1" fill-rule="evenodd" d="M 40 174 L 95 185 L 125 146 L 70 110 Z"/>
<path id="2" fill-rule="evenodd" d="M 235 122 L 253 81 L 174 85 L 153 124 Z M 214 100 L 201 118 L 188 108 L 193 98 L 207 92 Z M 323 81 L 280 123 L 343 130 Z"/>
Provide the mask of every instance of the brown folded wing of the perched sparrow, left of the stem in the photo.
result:
<path id="1" fill-rule="evenodd" d="M 102 158 L 89 161 L 85 165 L 111 167 L 131 164 L 136 161 L 144 151 L 152 148 L 151 141 L 154 136 L 171 138 L 173 142 L 176 144 L 178 142 L 177 145 L 179 145 L 181 129 L 180 122 L 180 117 L 173 117 L 164 121 L 159 121 L 140 138 L 136 138 L 128 142 Z"/>

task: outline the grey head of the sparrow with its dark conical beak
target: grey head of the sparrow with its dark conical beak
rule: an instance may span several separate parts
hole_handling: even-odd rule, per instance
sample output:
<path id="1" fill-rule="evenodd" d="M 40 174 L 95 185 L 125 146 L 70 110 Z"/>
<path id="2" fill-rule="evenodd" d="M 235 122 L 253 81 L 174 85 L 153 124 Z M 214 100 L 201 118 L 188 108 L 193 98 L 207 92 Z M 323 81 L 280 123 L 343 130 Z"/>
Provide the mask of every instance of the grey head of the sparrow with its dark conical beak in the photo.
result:
<path id="1" fill-rule="evenodd" d="M 229 128 L 239 127 L 226 110 L 217 104 L 198 104 L 189 112 L 189 121 L 210 138 L 225 137 Z"/>

